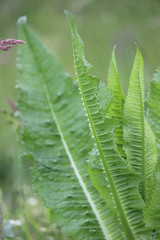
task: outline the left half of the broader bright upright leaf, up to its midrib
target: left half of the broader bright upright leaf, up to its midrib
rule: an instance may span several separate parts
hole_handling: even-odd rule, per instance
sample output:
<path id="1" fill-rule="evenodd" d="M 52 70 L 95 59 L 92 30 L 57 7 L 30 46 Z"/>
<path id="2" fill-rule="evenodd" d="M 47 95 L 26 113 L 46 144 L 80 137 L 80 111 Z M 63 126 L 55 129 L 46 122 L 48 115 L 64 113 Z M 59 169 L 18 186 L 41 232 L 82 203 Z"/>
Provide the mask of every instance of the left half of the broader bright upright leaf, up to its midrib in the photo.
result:
<path id="1" fill-rule="evenodd" d="M 130 85 L 124 104 L 124 139 L 128 162 L 139 174 L 145 173 L 145 124 L 143 59 L 137 48 Z M 144 174 L 145 176 L 145 174 Z"/>

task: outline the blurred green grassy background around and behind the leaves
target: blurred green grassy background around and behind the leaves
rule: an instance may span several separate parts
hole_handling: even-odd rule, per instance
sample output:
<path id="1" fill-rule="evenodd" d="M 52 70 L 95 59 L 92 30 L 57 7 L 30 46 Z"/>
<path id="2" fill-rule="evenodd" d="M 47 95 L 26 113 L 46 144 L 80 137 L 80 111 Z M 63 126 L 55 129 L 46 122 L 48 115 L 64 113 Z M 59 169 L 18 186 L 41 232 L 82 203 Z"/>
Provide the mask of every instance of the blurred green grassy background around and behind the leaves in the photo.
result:
<path id="1" fill-rule="evenodd" d="M 126 92 L 136 51 L 135 42 L 137 42 L 144 57 L 145 86 L 146 90 L 148 89 L 152 75 L 160 64 L 159 0 L 0 0 L 0 39 L 16 38 L 17 19 L 26 15 L 32 29 L 75 77 L 70 30 L 64 15 L 65 9 L 75 15 L 79 33 L 85 44 L 86 58 L 94 65 L 94 74 L 102 80 L 106 79 L 111 51 L 116 45 L 120 78 Z M 42 232 L 45 231 L 43 229 L 40 234 L 39 229 L 44 225 L 50 226 L 51 223 L 42 204 L 38 202 L 32 206 L 38 209 L 36 213 L 38 215 L 33 216 L 34 211 L 30 205 L 25 205 L 28 215 L 24 214 L 23 200 L 32 198 L 34 193 L 30 187 L 30 175 L 27 170 L 29 163 L 23 162 L 23 169 L 19 168 L 21 164 L 17 157 L 16 144 L 18 123 L 11 116 L 12 110 L 8 104 L 9 99 L 16 102 L 17 98 L 14 87 L 16 71 L 16 48 L 9 52 L 1 52 L 0 200 L 6 224 L 9 224 L 7 220 L 21 219 L 24 215 L 32 220 L 28 220 L 27 230 L 23 229 L 22 232 L 25 234 L 14 233 L 19 234 L 19 237 L 14 236 L 14 239 L 31 239 L 29 232 L 32 232 L 32 235 L 34 232 L 34 239 L 41 239 L 41 235 L 44 239 Z M 23 174 L 21 174 L 22 170 Z M 21 175 L 25 176 L 23 178 L 25 188 L 21 186 Z M 46 216 L 46 221 L 44 223 L 39 220 L 37 229 L 36 217 L 39 218 L 41 214 Z M 54 232 L 56 231 L 54 229 Z M 51 238 L 49 235 L 48 238 L 45 236 L 45 239 L 62 239 L 62 236 L 55 234 L 53 237 L 53 235 L 51 234 Z"/>

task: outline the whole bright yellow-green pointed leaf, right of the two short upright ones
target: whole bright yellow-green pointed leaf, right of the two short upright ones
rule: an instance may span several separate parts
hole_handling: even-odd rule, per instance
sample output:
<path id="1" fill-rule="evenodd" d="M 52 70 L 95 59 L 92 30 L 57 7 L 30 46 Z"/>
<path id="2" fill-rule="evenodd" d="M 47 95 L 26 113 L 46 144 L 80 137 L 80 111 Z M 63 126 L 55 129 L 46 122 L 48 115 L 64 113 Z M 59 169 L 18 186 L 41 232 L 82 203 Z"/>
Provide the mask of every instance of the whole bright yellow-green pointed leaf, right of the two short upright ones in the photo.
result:
<path id="1" fill-rule="evenodd" d="M 153 172 L 157 161 L 155 139 L 144 112 L 143 59 L 137 53 L 124 104 L 124 149 L 128 163 L 141 176 L 140 191 L 144 201 L 150 200 Z"/>

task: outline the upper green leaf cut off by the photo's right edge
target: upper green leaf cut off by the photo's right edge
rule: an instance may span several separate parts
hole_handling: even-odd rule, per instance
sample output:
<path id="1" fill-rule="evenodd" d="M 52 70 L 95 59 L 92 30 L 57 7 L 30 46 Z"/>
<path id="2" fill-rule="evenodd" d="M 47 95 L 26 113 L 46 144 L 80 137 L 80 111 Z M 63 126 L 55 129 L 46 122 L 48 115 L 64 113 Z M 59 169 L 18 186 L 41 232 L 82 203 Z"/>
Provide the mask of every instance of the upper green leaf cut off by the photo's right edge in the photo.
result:
<path id="1" fill-rule="evenodd" d="M 157 154 L 160 160 L 160 67 L 157 69 L 154 79 L 151 82 L 149 93 L 146 99 L 147 119 L 156 136 Z"/>

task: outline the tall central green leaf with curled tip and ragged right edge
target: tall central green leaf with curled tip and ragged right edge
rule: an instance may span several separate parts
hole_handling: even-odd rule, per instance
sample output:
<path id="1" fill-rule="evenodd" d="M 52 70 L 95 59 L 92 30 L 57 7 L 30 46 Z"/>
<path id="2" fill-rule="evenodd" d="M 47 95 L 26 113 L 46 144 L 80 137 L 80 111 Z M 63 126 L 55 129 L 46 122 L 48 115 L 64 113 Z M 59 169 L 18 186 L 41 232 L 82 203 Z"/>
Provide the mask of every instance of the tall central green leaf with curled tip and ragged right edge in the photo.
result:
<path id="1" fill-rule="evenodd" d="M 66 11 L 71 26 L 73 53 L 82 100 L 89 119 L 90 128 L 110 186 L 113 203 L 125 239 L 142 239 L 148 236 L 141 214 L 143 201 L 138 192 L 139 178 L 127 166 L 116 150 L 114 130 L 117 119 L 104 118 L 97 101 L 99 80 L 90 75 L 90 64 L 84 57 L 84 46 L 76 29 L 74 17 Z"/>

